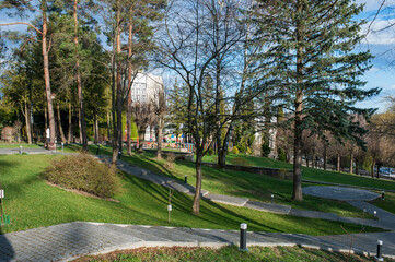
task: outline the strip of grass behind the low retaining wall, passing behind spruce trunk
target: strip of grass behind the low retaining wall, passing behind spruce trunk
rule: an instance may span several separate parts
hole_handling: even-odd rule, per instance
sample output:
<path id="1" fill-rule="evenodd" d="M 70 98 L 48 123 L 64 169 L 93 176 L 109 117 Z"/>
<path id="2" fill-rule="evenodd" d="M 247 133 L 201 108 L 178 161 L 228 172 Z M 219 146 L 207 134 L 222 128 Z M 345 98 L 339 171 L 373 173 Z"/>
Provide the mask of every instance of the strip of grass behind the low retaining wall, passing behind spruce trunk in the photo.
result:
<path id="1" fill-rule="evenodd" d="M 249 166 L 292 169 L 292 164 L 289 163 L 284 163 L 267 157 L 257 157 L 257 156 L 249 156 L 243 154 L 239 154 L 239 155 L 230 154 L 226 157 L 226 160 L 229 164 L 235 164 L 235 165 L 240 165 L 239 163 L 243 163 Z M 204 162 L 216 163 L 217 156 L 207 155 L 204 157 Z M 395 181 L 362 177 L 347 172 L 322 170 L 312 167 L 302 167 L 302 179 L 320 181 L 320 182 L 350 184 L 357 187 L 377 188 L 384 190 L 385 189 L 395 190 Z"/>

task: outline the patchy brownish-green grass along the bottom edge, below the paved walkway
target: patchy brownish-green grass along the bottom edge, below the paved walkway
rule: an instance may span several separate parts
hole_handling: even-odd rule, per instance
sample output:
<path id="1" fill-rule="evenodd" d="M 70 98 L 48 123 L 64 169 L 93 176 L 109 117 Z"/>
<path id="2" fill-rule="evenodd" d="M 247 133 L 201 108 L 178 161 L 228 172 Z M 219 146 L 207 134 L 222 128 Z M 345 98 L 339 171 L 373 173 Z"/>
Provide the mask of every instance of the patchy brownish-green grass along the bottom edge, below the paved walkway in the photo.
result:
<path id="1" fill-rule="evenodd" d="M 113 262 L 139 262 L 139 261 L 348 261 L 365 262 L 375 261 L 373 257 L 361 254 L 349 254 L 329 252 L 317 249 L 305 249 L 300 247 L 249 247 L 248 252 L 241 252 L 236 247 L 224 247 L 220 249 L 209 248 L 141 248 L 136 250 L 116 251 L 108 254 L 86 255 L 74 260 L 74 262 L 88 261 L 113 261 Z M 394 261 L 385 259 L 385 261 Z"/>

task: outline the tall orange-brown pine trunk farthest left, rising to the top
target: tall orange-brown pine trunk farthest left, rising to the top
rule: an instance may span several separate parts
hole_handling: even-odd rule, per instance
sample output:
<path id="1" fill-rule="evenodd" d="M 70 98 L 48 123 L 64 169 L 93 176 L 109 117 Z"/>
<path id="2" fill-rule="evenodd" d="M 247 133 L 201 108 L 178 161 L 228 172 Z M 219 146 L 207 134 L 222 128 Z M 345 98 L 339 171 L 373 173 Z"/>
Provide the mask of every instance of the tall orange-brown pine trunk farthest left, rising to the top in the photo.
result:
<path id="1" fill-rule="evenodd" d="M 49 150 L 55 150 L 55 115 L 53 107 L 53 94 L 50 91 L 49 82 L 49 61 L 48 61 L 48 48 L 47 48 L 47 13 L 46 1 L 42 1 L 42 15 L 43 15 L 43 59 L 44 59 L 44 82 L 45 93 L 47 96 L 48 120 L 49 120 Z"/>

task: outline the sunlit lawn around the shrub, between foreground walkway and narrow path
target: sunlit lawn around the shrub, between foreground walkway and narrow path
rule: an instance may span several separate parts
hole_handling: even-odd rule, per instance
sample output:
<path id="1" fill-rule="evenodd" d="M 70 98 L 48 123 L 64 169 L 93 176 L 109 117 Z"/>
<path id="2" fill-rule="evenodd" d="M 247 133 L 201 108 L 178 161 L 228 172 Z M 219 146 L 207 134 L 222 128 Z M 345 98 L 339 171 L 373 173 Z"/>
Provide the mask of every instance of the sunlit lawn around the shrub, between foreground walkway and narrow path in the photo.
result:
<path id="1" fill-rule="evenodd" d="M 195 228 L 239 229 L 247 223 L 251 230 L 309 235 L 359 233 L 361 226 L 323 219 L 309 219 L 201 201 L 199 216 L 191 215 L 193 196 L 174 192 L 172 221 L 167 223 L 169 189 L 123 172 L 121 193 L 112 202 L 80 195 L 47 184 L 43 170 L 54 155 L 1 155 L 0 181 L 4 189 L 4 213 L 10 233 L 74 221 L 159 225 Z M 365 231 L 381 231 L 367 227 Z"/>

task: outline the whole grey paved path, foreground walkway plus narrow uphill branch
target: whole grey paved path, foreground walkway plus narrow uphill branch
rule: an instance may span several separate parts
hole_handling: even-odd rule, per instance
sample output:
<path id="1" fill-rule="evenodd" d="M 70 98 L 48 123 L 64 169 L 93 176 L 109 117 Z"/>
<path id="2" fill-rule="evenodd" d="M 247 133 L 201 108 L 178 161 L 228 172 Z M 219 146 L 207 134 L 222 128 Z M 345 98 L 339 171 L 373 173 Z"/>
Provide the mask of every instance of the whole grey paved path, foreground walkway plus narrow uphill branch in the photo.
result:
<path id="1" fill-rule="evenodd" d="M 194 187 L 153 174 L 140 167 L 119 162 L 118 168 L 133 176 L 163 184 L 174 190 L 191 193 Z M 395 216 L 374 205 L 355 199 L 349 203 L 367 209 L 372 213 L 377 211 L 377 221 L 339 217 L 314 211 L 288 210 L 287 206 L 252 202 L 248 199 L 210 194 L 204 191 L 205 198 L 216 202 L 241 205 L 249 209 L 290 215 L 333 219 L 348 223 L 364 224 L 395 230 Z M 271 211 L 270 211 L 271 209 Z M 283 210 L 281 210 L 283 209 Z M 247 245 L 257 246 L 293 246 L 320 248 L 349 252 L 352 251 L 374 255 L 376 241 L 383 240 L 383 254 L 395 259 L 395 231 L 336 235 L 313 237 L 301 234 L 248 233 Z M 160 246 L 200 246 L 221 247 L 239 242 L 239 231 L 175 228 L 139 225 L 115 225 L 104 223 L 73 222 L 49 227 L 34 228 L 0 235 L 0 262 L 3 261 L 69 261 L 82 254 L 109 252 L 116 249 Z"/>

